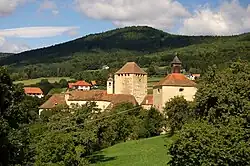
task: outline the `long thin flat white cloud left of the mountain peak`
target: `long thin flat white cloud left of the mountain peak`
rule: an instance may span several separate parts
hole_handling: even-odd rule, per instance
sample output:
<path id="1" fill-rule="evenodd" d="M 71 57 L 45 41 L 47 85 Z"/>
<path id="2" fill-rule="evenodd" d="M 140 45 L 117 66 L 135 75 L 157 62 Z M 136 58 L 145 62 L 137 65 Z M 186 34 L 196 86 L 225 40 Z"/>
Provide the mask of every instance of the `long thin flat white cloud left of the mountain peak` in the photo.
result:
<path id="1" fill-rule="evenodd" d="M 0 36 L 21 38 L 54 37 L 62 34 L 71 35 L 79 27 L 24 27 L 0 30 Z"/>

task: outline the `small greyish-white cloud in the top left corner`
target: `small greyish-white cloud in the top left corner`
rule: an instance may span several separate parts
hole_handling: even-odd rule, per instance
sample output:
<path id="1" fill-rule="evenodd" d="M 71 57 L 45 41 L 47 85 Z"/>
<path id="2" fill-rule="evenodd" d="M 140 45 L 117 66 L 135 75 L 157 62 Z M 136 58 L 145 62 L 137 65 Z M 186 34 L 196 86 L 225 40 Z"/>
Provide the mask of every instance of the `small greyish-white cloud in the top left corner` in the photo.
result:
<path id="1" fill-rule="evenodd" d="M 0 0 L 0 16 L 11 14 L 17 6 L 30 0 Z"/>

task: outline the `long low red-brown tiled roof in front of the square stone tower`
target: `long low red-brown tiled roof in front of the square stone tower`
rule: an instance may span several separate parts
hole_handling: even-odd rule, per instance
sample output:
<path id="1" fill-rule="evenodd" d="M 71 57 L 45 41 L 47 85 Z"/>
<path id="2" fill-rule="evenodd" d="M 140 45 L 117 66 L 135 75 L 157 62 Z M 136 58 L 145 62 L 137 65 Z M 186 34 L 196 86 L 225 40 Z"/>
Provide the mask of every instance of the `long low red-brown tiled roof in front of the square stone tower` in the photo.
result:
<path id="1" fill-rule="evenodd" d="M 113 105 L 129 102 L 136 104 L 135 97 L 127 94 L 107 94 L 105 90 L 70 91 L 69 101 L 108 101 Z"/>

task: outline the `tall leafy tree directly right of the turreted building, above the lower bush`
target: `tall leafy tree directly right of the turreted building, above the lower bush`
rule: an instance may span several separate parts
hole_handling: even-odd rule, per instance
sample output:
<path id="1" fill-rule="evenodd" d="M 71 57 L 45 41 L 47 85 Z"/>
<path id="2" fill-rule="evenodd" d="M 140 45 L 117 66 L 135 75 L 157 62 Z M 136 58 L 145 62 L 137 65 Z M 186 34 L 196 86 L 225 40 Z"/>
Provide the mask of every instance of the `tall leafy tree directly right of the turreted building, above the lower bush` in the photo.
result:
<path id="1" fill-rule="evenodd" d="M 231 116 L 246 118 L 250 110 L 249 80 L 247 62 L 235 62 L 223 71 L 210 68 L 199 80 L 197 115 L 215 123 L 226 123 Z"/>

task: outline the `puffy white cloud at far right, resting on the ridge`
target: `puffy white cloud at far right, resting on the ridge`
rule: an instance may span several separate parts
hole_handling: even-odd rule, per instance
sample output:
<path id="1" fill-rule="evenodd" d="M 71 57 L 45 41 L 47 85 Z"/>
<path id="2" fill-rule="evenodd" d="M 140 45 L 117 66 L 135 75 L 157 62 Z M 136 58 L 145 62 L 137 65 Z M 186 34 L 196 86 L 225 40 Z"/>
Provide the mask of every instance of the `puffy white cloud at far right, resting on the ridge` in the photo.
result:
<path id="1" fill-rule="evenodd" d="M 217 9 L 203 7 L 184 20 L 180 33 L 188 35 L 232 35 L 250 31 L 250 4 L 225 1 Z"/>

